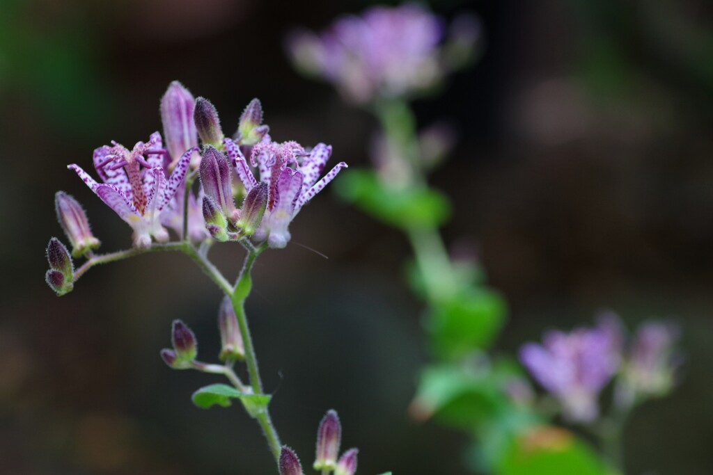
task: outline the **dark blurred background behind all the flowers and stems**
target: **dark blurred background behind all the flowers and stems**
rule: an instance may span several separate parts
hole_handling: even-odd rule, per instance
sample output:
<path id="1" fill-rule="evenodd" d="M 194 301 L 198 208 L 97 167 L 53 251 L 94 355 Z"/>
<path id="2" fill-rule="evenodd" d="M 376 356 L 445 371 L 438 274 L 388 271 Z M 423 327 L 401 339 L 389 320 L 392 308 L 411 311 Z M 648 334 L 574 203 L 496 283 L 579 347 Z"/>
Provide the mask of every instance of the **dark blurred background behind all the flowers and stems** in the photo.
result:
<path id="1" fill-rule="evenodd" d="M 185 257 L 151 254 L 95 268 L 56 298 L 43 283 L 43 249 L 64 239 L 53 194 L 85 205 L 102 251 L 127 247 L 128 226 L 65 167 L 160 130 L 158 101 L 175 79 L 215 103 L 227 133 L 257 96 L 276 140 L 324 141 L 335 160 L 368 165 L 376 122 L 294 73 L 282 51 L 289 28 L 322 29 L 368 4 L 0 0 L 2 473 L 273 473 L 242 411 L 190 402 L 214 380 L 158 357 L 182 318 L 214 359 L 217 289 Z M 446 241 L 473 246 L 508 299 L 499 350 L 590 323 L 602 307 L 629 325 L 674 318 L 684 379 L 633 415 L 627 466 L 710 473 L 713 4 L 431 6 L 446 18 L 474 11 L 484 26 L 481 61 L 414 106 L 420 125 L 458 127 L 433 181 L 453 197 Z M 291 230 L 294 244 L 260 259 L 248 304 L 284 442 L 311 465 L 334 407 L 360 474 L 466 474 L 466 439 L 406 414 L 428 357 L 403 236 L 329 192 Z M 230 276 L 238 247 L 212 250 Z"/>

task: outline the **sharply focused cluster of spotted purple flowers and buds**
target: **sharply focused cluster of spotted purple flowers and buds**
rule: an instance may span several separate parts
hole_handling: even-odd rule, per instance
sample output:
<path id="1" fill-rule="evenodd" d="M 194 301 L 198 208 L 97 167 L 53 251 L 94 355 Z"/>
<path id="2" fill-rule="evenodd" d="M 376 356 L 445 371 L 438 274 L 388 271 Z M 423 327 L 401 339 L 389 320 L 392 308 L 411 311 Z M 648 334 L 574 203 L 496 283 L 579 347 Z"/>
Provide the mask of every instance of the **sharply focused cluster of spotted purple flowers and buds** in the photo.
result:
<path id="1" fill-rule="evenodd" d="M 284 248 L 294 216 L 347 167 L 341 162 L 319 179 L 332 147 L 273 142 L 269 127 L 262 124 L 257 99 L 245 108 L 232 138 L 222 132 L 215 106 L 194 98 L 178 81 L 163 95 L 160 115 L 165 142 L 160 132 L 153 132 L 146 142 L 130 148 L 112 141 L 94 150 L 98 179 L 80 165 L 68 165 L 133 229 L 133 247 L 138 250 L 148 250 L 154 242 L 167 243 L 169 229 L 193 244 L 212 237 Z M 194 184 L 198 174 L 200 183 Z M 244 199 L 239 208 L 234 200 L 240 196 Z M 56 209 L 72 245 L 71 255 L 91 259 L 100 243 L 81 205 L 58 192 Z M 71 291 L 78 276 L 68 251 L 54 240 L 46 281 L 63 294 Z"/>

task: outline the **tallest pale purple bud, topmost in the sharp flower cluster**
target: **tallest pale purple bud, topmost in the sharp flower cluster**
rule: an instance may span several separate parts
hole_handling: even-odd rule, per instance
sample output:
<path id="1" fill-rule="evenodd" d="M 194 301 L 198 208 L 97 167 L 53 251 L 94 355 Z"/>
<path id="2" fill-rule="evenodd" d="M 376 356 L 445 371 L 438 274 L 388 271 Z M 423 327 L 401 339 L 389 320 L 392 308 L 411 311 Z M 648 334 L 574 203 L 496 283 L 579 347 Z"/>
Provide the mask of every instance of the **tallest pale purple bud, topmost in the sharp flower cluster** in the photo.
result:
<path id="1" fill-rule="evenodd" d="M 198 147 L 198 132 L 195 129 L 193 95 L 177 80 L 168 85 L 161 98 L 161 120 L 166 148 L 171 157 L 170 169 L 173 169 L 183 153 Z M 191 166 L 197 167 L 200 157 L 193 154 Z M 194 163 L 195 162 L 195 163 Z"/>

